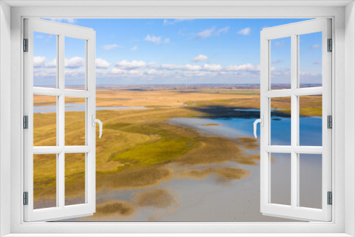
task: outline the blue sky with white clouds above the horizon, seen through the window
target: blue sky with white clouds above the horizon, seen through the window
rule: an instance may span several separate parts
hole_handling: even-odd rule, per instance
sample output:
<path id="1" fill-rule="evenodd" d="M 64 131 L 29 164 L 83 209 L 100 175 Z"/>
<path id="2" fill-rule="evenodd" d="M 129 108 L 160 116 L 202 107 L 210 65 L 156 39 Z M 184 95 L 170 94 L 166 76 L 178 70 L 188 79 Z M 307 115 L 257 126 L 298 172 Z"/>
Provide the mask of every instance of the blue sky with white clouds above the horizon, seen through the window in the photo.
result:
<path id="1" fill-rule="evenodd" d="M 48 19 L 96 31 L 97 84 L 259 84 L 260 32 L 306 19 Z M 55 84 L 55 35 L 34 33 L 34 84 Z M 300 35 L 300 82 L 322 82 L 322 33 Z M 65 38 L 65 84 L 84 83 L 84 40 Z M 290 83 L 290 38 L 271 40 Z"/>

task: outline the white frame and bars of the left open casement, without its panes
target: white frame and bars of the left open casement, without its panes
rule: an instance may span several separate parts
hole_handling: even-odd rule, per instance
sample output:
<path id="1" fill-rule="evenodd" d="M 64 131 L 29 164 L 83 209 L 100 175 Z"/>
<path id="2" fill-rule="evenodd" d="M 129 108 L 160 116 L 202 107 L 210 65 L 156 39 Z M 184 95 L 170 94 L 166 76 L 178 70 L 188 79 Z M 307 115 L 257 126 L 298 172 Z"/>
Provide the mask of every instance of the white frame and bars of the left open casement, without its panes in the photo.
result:
<path id="1" fill-rule="evenodd" d="M 33 87 L 33 32 L 55 35 L 57 38 L 57 85 L 56 88 Z M 84 89 L 65 89 L 65 38 L 77 38 L 85 43 L 85 80 Z M 28 116 L 28 128 L 24 136 L 24 192 L 28 192 L 28 205 L 24 205 L 25 221 L 53 221 L 77 216 L 91 216 L 96 210 L 96 136 L 94 118 L 96 114 L 96 77 L 95 77 L 95 31 L 82 26 L 58 23 L 42 19 L 24 19 L 24 38 L 28 39 L 28 52 L 24 60 L 24 115 Z M 54 146 L 33 146 L 33 95 L 56 98 L 57 144 Z M 80 97 L 85 100 L 85 143 L 84 145 L 65 145 L 65 97 Z M 85 162 L 85 202 L 84 204 L 65 205 L 65 159 L 66 154 L 84 153 Z M 56 206 L 33 209 L 33 155 L 56 155 Z"/>

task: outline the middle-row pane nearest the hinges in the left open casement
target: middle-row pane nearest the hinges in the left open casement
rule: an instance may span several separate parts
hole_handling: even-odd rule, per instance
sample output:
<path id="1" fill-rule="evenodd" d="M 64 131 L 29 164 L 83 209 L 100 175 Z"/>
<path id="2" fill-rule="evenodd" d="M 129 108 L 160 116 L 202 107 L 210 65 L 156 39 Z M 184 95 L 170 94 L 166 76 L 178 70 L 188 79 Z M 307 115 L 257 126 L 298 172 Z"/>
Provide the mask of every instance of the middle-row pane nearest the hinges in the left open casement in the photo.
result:
<path id="1" fill-rule="evenodd" d="M 33 145 L 57 145 L 57 97 L 33 95 Z"/>

